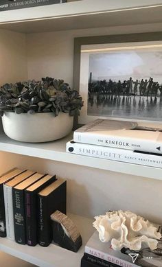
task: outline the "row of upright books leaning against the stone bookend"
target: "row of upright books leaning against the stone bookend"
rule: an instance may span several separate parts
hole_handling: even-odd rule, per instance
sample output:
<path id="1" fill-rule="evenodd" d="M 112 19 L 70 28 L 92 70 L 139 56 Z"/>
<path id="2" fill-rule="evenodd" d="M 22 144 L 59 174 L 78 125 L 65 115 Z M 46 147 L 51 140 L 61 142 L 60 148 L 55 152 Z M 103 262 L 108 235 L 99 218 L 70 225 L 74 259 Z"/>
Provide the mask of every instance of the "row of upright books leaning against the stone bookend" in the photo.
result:
<path id="1" fill-rule="evenodd" d="M 50 216 L 56 210 L 66 214 L 66 203 L 67 181 L 15 167 L 0 176 L 0 237 L 48 246 Z"/>

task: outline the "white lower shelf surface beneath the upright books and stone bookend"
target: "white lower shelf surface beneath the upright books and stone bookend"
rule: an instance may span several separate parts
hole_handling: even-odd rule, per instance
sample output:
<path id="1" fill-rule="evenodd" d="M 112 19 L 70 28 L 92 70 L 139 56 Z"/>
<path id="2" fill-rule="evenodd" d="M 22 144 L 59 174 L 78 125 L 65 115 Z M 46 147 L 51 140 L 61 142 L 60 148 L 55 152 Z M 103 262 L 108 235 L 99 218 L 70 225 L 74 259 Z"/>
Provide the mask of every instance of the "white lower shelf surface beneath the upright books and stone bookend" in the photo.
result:
<path id="1" fill-rule="evenodd" d="M 69 214 L 69 218 L 76 223 L 82 235 L 83 244 L 78 253 L 67 251 L 55 244 L 50 244 L 47 248 L 39 245 L 20 245 L 7 238 L 0 238 L 0 250 L 40 267 L 80 267 L 84 246 L 95 231 L 92 226 L 93 220 L 73 214 Z"/>

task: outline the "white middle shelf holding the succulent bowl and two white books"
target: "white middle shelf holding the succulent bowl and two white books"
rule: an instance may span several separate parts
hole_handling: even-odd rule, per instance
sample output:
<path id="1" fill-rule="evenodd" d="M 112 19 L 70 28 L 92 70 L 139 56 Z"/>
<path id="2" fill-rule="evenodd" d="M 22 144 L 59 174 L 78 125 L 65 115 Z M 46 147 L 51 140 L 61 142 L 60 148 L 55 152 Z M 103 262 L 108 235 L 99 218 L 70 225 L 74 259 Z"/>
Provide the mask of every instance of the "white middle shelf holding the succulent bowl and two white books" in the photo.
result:
<path id="1" fill-rule="evenodd" d="M 0 133 L 0 151 L 35 156 L 42 159 L 61 161 L 86 167 L 94 167 L 101 170 L 132 174 L 146 178 L 162 180 L 162 169 L 145 165 L 136 165 L 108 159 L 98 159 L 91 156 L 82 156 L 66 152 L 67 141 L 73 139 L 73 133 L 58 141 L 47 143 L 23 143 L 14 141 L 3 132 Z"/>

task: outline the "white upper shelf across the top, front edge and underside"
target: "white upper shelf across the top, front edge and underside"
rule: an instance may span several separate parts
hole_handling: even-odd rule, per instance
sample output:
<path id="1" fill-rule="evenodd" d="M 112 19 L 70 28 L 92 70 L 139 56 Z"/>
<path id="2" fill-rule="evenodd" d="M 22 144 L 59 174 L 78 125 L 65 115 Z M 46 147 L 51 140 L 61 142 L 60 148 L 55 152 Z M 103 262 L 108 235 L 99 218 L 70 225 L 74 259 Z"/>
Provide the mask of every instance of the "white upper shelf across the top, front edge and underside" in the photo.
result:
<path id="1" fill-rule="evenodd" d="M 50 32 L 162 22 L 161 0 L 82 0 L 0 12 L 0 29 Z"/>

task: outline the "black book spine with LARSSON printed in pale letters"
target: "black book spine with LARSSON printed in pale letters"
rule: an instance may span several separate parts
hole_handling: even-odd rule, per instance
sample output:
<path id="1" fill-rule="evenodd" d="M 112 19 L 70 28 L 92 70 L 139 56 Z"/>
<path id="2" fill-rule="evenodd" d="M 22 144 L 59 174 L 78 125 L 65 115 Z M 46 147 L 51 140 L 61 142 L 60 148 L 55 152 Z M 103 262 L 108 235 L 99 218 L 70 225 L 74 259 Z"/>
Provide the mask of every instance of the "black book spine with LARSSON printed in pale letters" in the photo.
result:
<path id="1" fill-rule="evenodd" d="M 15 241 L 19 244 L 26 244 L 25 239 L 25 207 L 23 190 L 14 189 L 13 209 L 14 209 L 14 235 Z"/>

